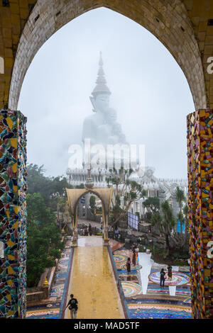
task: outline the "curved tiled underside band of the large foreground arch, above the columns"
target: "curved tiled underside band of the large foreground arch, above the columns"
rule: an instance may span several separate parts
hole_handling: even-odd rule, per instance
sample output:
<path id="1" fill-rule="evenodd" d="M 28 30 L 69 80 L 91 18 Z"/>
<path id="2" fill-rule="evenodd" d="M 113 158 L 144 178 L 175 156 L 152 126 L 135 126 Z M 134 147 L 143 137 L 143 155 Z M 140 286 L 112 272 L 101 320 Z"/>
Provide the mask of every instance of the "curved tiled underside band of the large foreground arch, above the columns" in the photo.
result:
<path id="1" fill-rule="evenodd" d="M 195 108 L 206 108 L 200 50 L 182 1 L 38 0 L 23 28 L 9 90 L 9 108 L 16 110 L 26 71 L 39 48 L 58 29 L 86 11 L 107 7 L 149 30 L 170 51 L 187 78 Z M 157 61 L 157 60 L 156 60 Z"/>

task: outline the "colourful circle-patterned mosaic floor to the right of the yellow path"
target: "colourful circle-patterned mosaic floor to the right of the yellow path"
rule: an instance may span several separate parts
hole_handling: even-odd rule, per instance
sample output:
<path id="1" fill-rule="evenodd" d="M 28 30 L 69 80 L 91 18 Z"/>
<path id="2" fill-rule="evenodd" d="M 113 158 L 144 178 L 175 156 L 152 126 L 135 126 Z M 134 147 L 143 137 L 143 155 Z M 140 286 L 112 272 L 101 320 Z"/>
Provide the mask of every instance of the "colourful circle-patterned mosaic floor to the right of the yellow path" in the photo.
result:
<path id="1" fill-rule="evenodd" d="M 173 266 L 172 281 L 166 274 L 165 286 L 160 287 L 160 269 L 151 254 L 138 254 L 138 263 L 126 272 L 126 259 L 131 250 L 114 251 L 114 261 L 124 290 L 130 317 L 134 319 L 191 319 L 189 267 Z"/>

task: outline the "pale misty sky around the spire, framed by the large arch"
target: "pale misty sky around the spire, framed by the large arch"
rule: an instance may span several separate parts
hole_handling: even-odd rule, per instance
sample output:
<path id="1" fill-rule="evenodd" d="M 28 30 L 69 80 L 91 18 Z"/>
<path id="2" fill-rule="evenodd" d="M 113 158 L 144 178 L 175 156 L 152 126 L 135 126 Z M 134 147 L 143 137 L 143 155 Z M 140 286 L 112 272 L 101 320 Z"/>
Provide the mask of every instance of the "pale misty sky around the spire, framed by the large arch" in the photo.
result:
<path id="1" fill-rule="evenodd" d="M 195 107 L 185 75 L 148 30 L 104 8 L 58 30 L 26 73 L 18 110 L 28 118 L 28 163 L 44 164 L 48 176 L 65 174 L 68 148 L 81 142 L 92 114 L 99 51 L 127 141 L 146 145 L 155 176 L 186 179 L 186 115 Z"/>

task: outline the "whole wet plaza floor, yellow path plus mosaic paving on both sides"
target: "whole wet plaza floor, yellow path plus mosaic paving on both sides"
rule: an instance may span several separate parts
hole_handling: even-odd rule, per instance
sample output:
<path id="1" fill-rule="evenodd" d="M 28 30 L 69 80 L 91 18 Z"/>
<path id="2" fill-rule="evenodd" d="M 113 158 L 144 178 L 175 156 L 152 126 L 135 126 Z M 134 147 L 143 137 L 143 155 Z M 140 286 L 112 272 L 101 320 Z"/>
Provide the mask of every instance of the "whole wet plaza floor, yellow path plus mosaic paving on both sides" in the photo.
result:
<path id="1" fill-rule="evenodd" d="M 107 247 L 103 247 L 102 242 L 101 236 L 80 237 L 78 247 L 74 250 L 72 265 L 71 243 L 67 242 L 67 248 L 58 263 L 50 298 L 33 307 L 27 307 L 26 317 L 63 317 L 63 304 L 68 302 L 70 293 L 73 293 L 79 300 L 77 319 L 124 318 Z M 166 279 L 165 287 L 160 287 L 159 272 L 161 268 L 166 271 L 165 265 L 155 263 L 150 254 L 142 252 L 138 255 L 136 266 L 131 265 L 131 273 L 127 273 L 126 259 L 128 256 L 132 257 L 131 250 L 119 250 L 123 244 L 114 239 L 110 239 L 109 245 L 114 253 L 130 318 L 192 318 L 189 266 L 173 266 L 172 281 Z M 107 308 L 109 312 L 106 312 Z M 65 318 L 70 317 L 68 309 L 64 314 Z"/>

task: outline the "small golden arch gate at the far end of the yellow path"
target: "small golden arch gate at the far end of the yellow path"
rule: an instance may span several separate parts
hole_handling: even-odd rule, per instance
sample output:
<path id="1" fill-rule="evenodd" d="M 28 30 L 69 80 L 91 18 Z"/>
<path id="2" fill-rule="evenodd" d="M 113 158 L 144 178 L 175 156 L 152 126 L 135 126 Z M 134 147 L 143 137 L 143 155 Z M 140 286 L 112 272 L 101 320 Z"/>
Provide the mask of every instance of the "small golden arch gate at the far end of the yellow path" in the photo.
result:
<path id="1" fill-rule="evenodd" d="M 66 191 L 70 206 L 70 216 L 72 218 L 72 246 L 77 245 L 77 203 L 80 201 L 80 198 L 85 196 L 87 193 L 93 193 L 102 201 L 104 245 L 108 245 L 108 222 L 113 188 L 66 188 Z"/>

